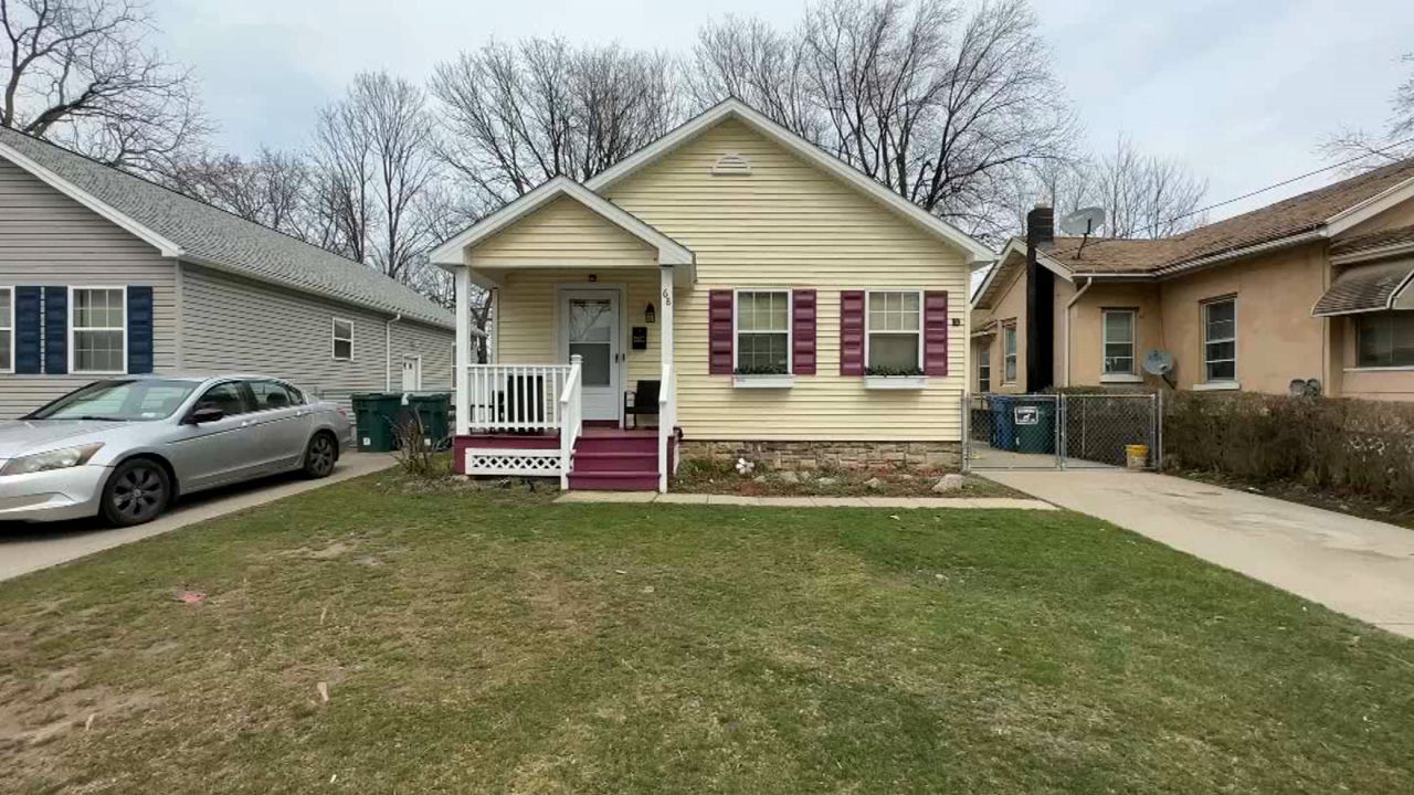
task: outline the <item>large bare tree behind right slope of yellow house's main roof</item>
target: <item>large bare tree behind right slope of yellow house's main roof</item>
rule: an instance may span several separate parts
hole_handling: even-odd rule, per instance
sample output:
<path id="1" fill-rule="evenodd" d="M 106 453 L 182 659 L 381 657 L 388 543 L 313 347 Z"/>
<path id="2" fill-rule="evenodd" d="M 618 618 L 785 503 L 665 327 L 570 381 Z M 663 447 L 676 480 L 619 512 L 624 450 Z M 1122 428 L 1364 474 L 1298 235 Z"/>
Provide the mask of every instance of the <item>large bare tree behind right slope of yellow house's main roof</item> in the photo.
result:
<path id="1" fill-rule="evenodd" d="M 730 20 L 699 37 L 696 99 L 721 91 L 919 207 L 983 235 L 1007 190 L 1075 124 L 1024 0 L 822 0 L 790 34 Z M 817 126 L 819 124 L 819 126 Z"/>

